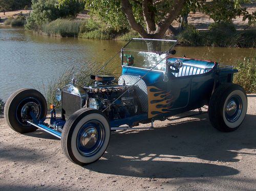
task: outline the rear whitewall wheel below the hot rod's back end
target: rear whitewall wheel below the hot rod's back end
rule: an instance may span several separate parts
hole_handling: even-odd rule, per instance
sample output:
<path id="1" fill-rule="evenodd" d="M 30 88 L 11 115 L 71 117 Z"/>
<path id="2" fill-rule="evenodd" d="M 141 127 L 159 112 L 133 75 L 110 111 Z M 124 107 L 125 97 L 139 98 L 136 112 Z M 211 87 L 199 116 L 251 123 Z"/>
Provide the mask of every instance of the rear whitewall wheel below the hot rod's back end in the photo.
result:
<path id="1" fill-rule="evenodd" d="M 234 131 L 242 124 L 247 112 L 245 90 L 237 84 L 222 84 L 209 102 L 209 120 L 220 131 Z"/>

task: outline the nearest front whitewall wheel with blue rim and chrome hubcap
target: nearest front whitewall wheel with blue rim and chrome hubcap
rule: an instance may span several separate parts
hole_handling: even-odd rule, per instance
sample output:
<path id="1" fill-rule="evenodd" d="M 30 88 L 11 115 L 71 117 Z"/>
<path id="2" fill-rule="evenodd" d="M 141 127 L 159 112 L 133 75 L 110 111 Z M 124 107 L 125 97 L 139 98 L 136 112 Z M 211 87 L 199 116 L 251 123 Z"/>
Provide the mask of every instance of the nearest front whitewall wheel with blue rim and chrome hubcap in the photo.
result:
<path id="1" fill-rule="evenodd" d="M 72 162 L 85 165 L 98 160 L 110 140 L 110 125 L 96 109 L 83 108 L 74 112 L 61 133 L 63 153 Z"/>

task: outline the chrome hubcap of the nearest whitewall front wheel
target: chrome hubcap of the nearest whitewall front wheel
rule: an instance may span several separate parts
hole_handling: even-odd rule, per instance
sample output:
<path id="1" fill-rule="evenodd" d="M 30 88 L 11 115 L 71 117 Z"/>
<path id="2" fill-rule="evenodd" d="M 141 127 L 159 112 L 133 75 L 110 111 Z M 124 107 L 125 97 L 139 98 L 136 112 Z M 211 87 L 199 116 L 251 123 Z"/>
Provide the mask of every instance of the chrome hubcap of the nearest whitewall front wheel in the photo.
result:
<path id="1" fill-rule="evenodd" d="M 98 140 L 98 133 L 94 127 L 86 128 L 80 138 L 81 145 L 86 149 L 91 149 Z"/>

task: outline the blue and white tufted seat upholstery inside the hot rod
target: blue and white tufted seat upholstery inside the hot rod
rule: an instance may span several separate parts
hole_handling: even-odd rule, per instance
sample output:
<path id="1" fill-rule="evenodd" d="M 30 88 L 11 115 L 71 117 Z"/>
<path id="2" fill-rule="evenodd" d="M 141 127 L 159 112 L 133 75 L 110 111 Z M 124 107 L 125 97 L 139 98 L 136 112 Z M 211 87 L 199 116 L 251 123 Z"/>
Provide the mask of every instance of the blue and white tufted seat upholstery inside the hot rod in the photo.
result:
<path id="1" fill-rule="evenodd" d="M 175 62 L 177 59 L 183 62 L 183 66 L 180 68 L 179 73 L 172 73 L 175 77 L 204 74 L 215 66 L 214 62 L 187 58 L 168 58 L 168 61 Z"/>

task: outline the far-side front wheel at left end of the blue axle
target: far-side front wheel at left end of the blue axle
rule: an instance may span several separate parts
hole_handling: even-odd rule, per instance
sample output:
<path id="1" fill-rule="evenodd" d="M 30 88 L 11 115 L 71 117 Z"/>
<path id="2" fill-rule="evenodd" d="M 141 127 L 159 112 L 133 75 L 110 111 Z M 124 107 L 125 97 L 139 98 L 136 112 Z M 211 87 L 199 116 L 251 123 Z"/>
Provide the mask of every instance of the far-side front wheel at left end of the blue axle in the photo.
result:
<path id="1" fill-rule="evenodd" d="M 28 133 L 37 129 L 27 123 L 28 120 L 33 121 L 30 112 L 33 112 L 37 120 L 45 118 L 47 114 L 46 99 L 35 89 L 19 89 L 6 101 L 5 120 L 18 133 Z"/>

